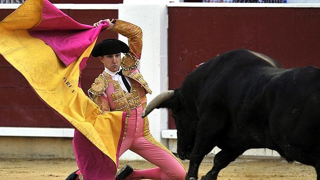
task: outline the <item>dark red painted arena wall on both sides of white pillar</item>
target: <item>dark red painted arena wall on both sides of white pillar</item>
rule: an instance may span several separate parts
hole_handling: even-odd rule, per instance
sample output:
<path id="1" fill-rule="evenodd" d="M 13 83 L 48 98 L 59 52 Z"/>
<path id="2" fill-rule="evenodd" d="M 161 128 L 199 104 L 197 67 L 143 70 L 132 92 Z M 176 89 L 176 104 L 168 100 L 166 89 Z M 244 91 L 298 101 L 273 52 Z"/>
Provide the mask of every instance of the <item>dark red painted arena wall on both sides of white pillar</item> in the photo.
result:
<path id="1" fill-rule="evenodd" d="M 12 11 L 0 9 L 0 20 Z M 118 17 L 117 10 L 63 11 L 85 24 Z M 266 54 L 285 68 L 320 67 L 320 8 L 168 7 L 168 15 L 169 89 L 178 88 L 197 64 L 239 48 Z M 98 41 L 105 38 L 117 34 L 105 31 Z M 102 71 L 90 57 L 81 77 L 84 92 Z M 0 77 L 0 126 L 69 127 L 1 56 Z"/>

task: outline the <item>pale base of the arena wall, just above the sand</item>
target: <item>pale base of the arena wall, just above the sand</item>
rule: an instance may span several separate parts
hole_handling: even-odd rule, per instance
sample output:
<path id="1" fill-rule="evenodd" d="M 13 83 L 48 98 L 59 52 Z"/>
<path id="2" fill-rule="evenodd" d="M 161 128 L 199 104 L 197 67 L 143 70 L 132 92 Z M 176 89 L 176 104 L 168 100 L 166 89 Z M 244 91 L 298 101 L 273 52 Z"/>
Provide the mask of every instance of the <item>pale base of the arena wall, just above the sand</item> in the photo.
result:
<path id="1" fill-rule="evenodd" d="M 177 139 L 168 139 L 168 148 L 172 153 L 176 153 Z M 6 137 L 0 136 L 0 159 L 75 159 L 72 138 L 61 137 Z M 209 153 L 204 161 L 212 161 L 215 154 L 220 151 L 215 147 Z M 132 156 L 133 152 L 126 152 L 120 160 L 135 161 L 144 160 L 136 155 Z M 130 155 L 129 155 L 130 154 Z M 241 159 L 280 159 L 280 155 L 273 150 L 261 148 L 250 149 L 245 151 Z"/>

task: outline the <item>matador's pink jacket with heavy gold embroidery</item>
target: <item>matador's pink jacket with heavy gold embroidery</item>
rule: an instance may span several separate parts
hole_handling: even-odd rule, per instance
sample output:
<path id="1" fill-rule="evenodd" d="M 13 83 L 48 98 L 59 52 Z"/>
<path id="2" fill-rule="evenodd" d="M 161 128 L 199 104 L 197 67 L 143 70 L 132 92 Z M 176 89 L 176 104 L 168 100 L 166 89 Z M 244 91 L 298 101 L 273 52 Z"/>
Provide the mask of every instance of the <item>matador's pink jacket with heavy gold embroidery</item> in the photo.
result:
<path id="1" fill-rule="evenodd" d="M 142 51 L 142 31 L 140 27 L 122 20 L 116 21 L 112 31 L 128 38 L 129 52 L 121 59 L 121 67 L 123 75 L 129 78 L 131 91 L 128 93 L 122 90 L 119 82 L 103 72 L 94 80 L 88 90 L 88 96 L 102 112 L 126 111 L 129 116 L 131 109 L 147 102 L 146 93 L 152 93 L 138 70 Z"/>

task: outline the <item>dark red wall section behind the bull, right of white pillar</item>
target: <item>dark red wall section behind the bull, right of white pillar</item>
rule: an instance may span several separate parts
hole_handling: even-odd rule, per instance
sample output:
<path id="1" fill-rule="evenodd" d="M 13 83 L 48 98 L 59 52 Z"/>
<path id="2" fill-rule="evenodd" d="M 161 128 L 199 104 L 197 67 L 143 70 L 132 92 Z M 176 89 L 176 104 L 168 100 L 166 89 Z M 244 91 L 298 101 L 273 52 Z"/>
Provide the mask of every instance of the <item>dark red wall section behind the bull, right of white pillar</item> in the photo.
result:
<path id="1" fill-rule="evenodd" d="M 196 65 L 245 48 L 284 68 L 320 67 L 320 8 L 169 7 L 169 89 Z M 170 116 L 169 127 L 174 128 Z"/>

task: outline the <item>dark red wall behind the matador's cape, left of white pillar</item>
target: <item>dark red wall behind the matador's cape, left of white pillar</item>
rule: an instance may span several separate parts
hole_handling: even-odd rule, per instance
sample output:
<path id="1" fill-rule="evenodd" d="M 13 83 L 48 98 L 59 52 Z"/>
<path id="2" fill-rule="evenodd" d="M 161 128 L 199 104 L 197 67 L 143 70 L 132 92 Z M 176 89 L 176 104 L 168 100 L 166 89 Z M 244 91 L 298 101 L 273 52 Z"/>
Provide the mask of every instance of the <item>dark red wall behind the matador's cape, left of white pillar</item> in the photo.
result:
<path id="1" fill-rule="evenodd" d="M 118 18 L 118 10 L 63 10 L 80 23 L 93 24 L 109 18 Z M 0 20 L 13 9 L 0 9 Z M 104 31 L 97 41 L 118 38 L 114 32 Z M 84 92 L 103 71 L 100 61 L 90 57 L 82 72 Z M 70 127 L 48 108 L 29 87 L 23 76 L 0 55 L 0 126 L 7 127 Z"/>

